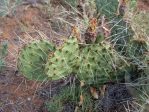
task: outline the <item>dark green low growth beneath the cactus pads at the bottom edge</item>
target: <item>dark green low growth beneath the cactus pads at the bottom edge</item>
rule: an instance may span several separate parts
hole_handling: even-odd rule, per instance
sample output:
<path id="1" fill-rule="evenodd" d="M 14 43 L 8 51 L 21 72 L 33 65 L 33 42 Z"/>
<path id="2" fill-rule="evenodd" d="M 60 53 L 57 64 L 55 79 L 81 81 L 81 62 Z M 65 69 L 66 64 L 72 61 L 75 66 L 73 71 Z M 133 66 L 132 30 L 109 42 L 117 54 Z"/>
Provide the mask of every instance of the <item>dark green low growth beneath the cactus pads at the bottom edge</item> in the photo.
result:
<path id="1" fill-rule="evenodd" d="M 79 106 L 80 95 L 82 94 L 83 101 Z M 71 111 L 88 112 L 92 107 L 92 97 L 86 89 L 81 89 L 79 85 L 71 85 L 65 87 L 60 93 L 54 96 L 46 103 L 49 112 L 63 112 L 68 111 L 67 104 L 71 106 Z M 66 109 L 65 109 L 66 108 Z M 76 109 L 77 108 L 77 109 Z"/>

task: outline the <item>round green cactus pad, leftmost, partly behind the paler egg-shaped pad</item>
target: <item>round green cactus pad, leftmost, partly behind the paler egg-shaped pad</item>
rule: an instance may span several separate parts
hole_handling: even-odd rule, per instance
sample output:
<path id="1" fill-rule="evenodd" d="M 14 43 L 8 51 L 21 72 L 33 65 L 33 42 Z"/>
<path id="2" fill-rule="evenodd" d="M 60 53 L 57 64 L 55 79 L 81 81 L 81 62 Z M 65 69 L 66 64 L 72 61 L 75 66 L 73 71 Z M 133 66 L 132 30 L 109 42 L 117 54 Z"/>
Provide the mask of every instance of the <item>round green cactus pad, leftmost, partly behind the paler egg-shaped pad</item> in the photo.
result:
<path id="1" fill-rule="evenodd" d="M 45 64 L 48 54 L 54 51 L 54 46 L 46 40 L 36 40 L 22 48 L 18 60 L 18 69 L 31 80 L 47 79 Z"/>

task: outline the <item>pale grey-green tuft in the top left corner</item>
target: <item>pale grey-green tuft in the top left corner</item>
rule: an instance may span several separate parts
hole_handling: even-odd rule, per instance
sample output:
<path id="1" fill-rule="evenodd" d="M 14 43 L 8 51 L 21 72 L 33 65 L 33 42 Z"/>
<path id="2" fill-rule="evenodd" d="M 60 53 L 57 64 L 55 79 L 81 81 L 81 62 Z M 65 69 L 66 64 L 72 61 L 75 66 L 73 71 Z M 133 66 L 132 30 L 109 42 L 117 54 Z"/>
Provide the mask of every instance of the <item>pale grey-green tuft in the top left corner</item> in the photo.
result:
<path id="1" fill-rule="evenodd" d="M 22 0 L 0 0 L 0 16 L 11 15 L 21 3 Z"/>

